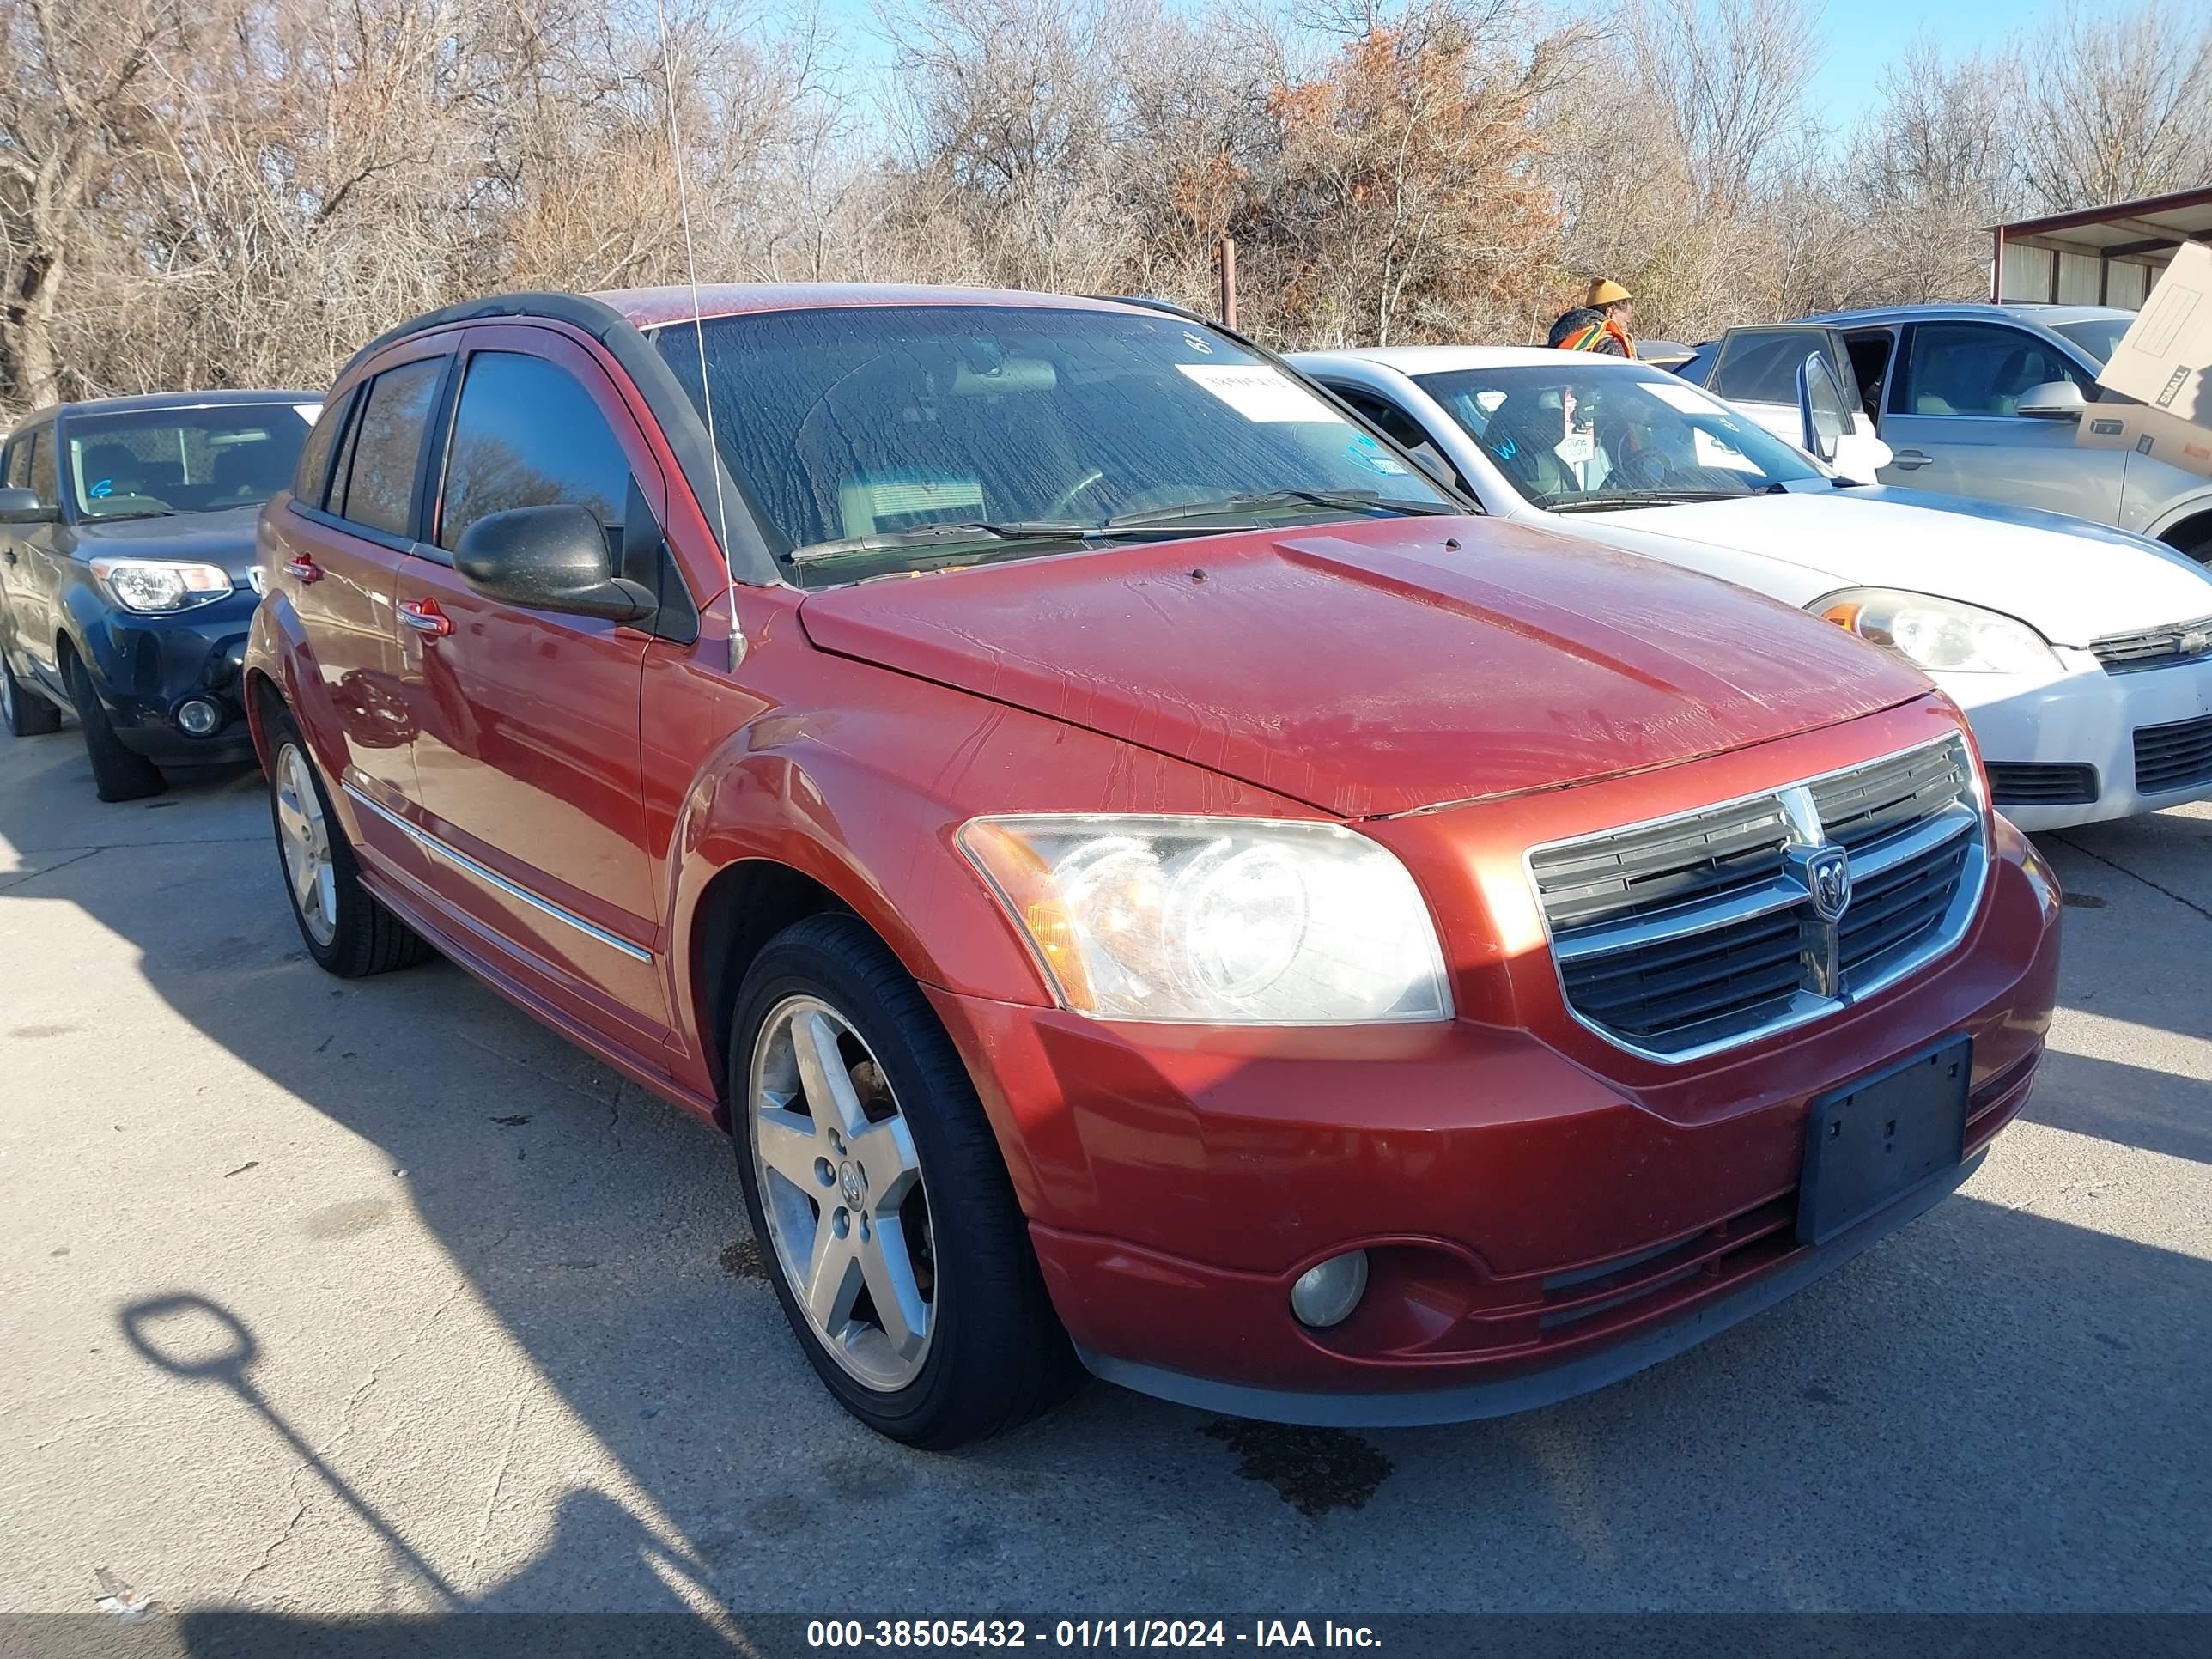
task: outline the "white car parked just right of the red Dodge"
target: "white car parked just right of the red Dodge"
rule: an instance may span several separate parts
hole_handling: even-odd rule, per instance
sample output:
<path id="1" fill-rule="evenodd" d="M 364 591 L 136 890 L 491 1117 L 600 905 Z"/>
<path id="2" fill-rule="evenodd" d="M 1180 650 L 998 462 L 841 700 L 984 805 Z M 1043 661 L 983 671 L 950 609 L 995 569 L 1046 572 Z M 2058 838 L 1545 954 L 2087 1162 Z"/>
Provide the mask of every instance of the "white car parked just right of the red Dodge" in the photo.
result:
<path id="1" fill-rule="evenodd" d="M 1544 347 L 1292 358 L 1484 511 L 1825 615 L 1973 723 L 2059 830 L 2212 796 L 2212 575 L 2126 531 L 1851 484 L 1661 369 Z"/>

